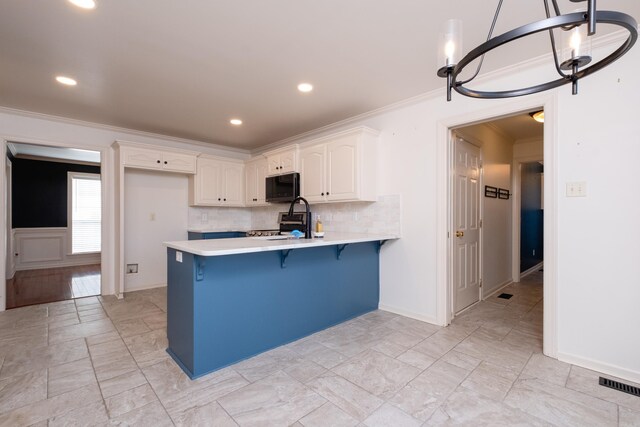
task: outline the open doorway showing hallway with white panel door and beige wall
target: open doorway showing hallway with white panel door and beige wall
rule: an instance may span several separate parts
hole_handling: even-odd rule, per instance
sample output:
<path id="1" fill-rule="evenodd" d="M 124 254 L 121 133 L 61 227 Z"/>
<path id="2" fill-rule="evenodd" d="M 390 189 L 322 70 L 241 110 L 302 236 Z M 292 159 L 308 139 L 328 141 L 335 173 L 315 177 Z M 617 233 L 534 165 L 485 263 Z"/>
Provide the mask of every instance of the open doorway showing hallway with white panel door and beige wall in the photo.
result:
<path id="1" fill-rule="evenodd" d="M 537 110 L 452 130 L 452 317 L 519 282 L 521 272 L 537 271 L 542 262 L 542 211 L 537 208 L 542 202 L 539 169 L 544 127 L 529 114 Z M 521 163 L 532 156 L 539 156 L 540 163 Z M 474 159 L 481 159 L 477 169 L 473 169 Z M 526 209 L 521 212 L 523 194 Z M 521 242 L 525 249 L 520 248 Z M 521 254 L 526 258 L 521 259 Z M 540 261 L 531 264 L 533 259 Z"/>

